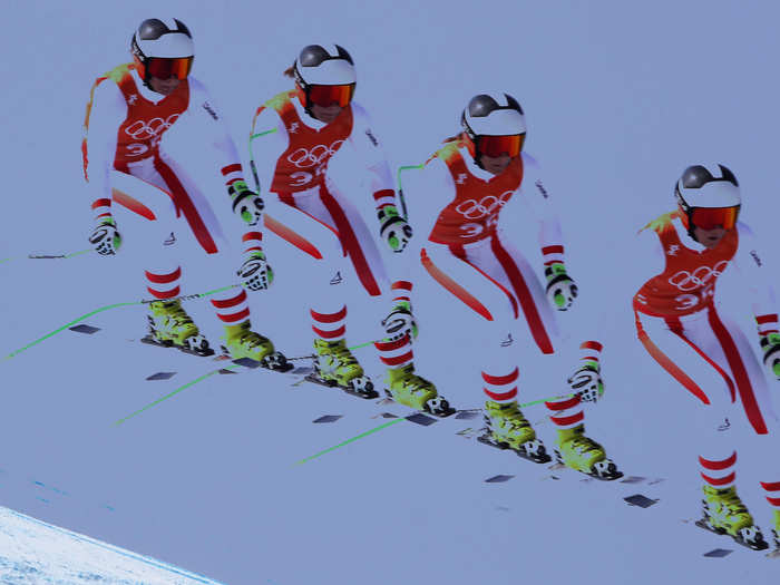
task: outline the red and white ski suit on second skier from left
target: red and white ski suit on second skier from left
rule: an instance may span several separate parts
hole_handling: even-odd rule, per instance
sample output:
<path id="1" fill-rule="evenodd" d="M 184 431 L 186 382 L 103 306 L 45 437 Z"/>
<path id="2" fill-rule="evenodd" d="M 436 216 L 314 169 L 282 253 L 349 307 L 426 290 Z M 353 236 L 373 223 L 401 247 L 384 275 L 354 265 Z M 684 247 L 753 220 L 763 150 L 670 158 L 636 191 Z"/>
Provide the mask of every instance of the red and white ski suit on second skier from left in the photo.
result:
<path id="1" fill-rule="evenodd" d="M 264 226 L 311 260 L 310 313 L 315 335 L 328 341 L 345 335 L 345 291 L 334 284 L 348 279 L 349 264 L 371 296 L 408 299 L 410 283 L 390 286 L 377 244 L 377 216 L 364 218 L 365 212 L 355 205 L 359 202 L 351 201 L 329 172 L 337 153 L 349 149 L 368 170 L 372 209 L 396 205 L 390 168 L 365 110 L 352 101 L 324 124 L 305 111 L 296 91 L 284 91 L 257 108 L 252 134 L 262 134 L 254 140 L 253 155 L 260 183 L 272 194 L 266 197 Z M 402 357 L 411 360 L 406 341 L 377 348 L 387 365 L 399 367 Z"/>

